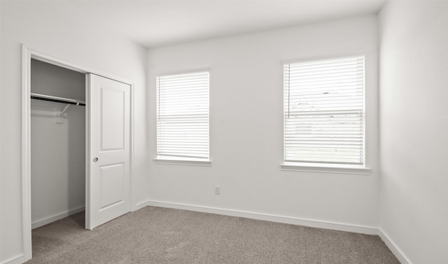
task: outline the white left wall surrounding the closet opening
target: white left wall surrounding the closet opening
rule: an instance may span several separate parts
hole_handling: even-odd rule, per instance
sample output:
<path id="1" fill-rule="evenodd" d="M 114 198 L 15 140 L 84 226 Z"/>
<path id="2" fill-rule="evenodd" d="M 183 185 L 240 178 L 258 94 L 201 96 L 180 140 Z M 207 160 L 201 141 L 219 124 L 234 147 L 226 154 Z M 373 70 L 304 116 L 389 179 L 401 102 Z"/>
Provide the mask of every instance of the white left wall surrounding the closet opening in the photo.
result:
<path id="1" fill-rule="evenodd" d="M 1 1 L 0 262 L 24 253 L 22 241 L 21 63 L 25 44 L 71 64 L 134 80 L 134 204 L 147 198 L 146 49 L 94 24 L 67 3 Z"/>

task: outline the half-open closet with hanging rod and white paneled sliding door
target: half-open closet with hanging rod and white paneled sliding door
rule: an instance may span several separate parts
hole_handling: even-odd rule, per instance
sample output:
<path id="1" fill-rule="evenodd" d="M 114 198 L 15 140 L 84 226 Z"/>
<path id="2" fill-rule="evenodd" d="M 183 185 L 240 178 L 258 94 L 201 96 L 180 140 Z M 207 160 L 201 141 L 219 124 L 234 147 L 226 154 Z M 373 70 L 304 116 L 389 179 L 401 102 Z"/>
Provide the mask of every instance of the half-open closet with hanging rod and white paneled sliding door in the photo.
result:
<path id="1" fill-rule="evenodd" d="M 52 62 L 29 64 L 31 228 L 85 210 L 92 230 L 131 209 L 132 82 Z"/>

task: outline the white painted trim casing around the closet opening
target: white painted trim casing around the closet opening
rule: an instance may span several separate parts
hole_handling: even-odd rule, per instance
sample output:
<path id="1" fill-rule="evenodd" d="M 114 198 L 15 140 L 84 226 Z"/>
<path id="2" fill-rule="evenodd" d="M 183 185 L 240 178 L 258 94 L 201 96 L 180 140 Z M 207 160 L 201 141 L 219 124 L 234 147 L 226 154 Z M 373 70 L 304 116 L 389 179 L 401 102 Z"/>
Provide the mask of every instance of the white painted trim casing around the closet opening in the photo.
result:
<path id="1" fill-rule="evenodd" d="M 72 71 L 77 71 L 79 73 L 93 73 L 95 75 L 102 76 L 104 78 L 109 78 L 111 80 L 116 80 L 118 82 L 123 82 L 126 85 L 130 85 L 132 92 L 134 89 L 134 82 L 132 80 L 122 78 L 120 76 L 112 75 L 110 73 L 105 73 L 104 71 L 98 71 L 95 69 L 90 68 L 84 68 L 82 66 L 78 66 L 76 64 L 71 64 L 66 61 L 62 61 L 60 59 L 56 59 L 55 57 L 50 57 L 46 54 L 42 54 L 40 52 L 36 52 L 34 50 L 29 50 L 25 45 L 22 44 L 22 245 L 23 245 L 23 251 L 24 255 L 23 258 L 20 258 L 20 263 L 23 263 L 25 261 L 29 261 L 31 259 L 31 135 L 30 135 L 30 105 L 31 105 L 31 59 L 37 59 L 40 61 L 45 61 L 49 64 L 53 64 L 56 66 L 60 66 L 62 68 L 68 68 Z M 87 85 L 87 84 L 86 84 Z M 88 93 L 89 87 L 86 86 L 86 93 Z M 90 99 L 88 96 L 86 96 L 86 103 L 88 105 Z M 131 111 L 134 108 L 133 101 L 131 100 L 130 105 Z M 86 144 L 89 140 L 87 129 L 88 126 L 88 115 L 89 110 L 88 106 L 86 108 Z M 131 113 L 131 119 L 133 119 L 133 112 Z M 131 144 L 134 143 L 133 141 L 133 123 L 131 120 L 131 129 L 132 133 L 130 133 L 131 137 Z M 133 152 L 134 146 L 130 146 L 130 152 Z M 86 147 L 86 151 L 87 151 Z M 87 152 L 89 153 L 89 152 Z M 88 155 L 86 156 L 88 157 Z M 132 181 L 132 172 L 133 172 L 133 164 L 134 156 L 130 155 L 130 179 Z M 90 159 L 89 159 L 90 160 Z M 90 170 L 88 170 L 88 163 L 86 163 L 86 173 L 88 173 Z M 88 175 L 88 174 L 87 174 Z M 87 177 L 86 175 L 86 177 Z M 86 178 L 86 184 L 87 184 L 87 178 Z M 89 208 L 89 200 L 87 199 L 87 193 L 89 193 L 89 186 L 86 186 L 86 200 L 85 200 L 85 208 L 88 210 Z M 130 196 L 133 193 L 133 186 L 130 185 Z M 130 206 L 130 211 L 132 210 L 132 205 Z M 87 219 L 87 211 L 86 211 L 86 219 Z M 86 226 L 89 226 L 89 224 L 86 221 Z"/>

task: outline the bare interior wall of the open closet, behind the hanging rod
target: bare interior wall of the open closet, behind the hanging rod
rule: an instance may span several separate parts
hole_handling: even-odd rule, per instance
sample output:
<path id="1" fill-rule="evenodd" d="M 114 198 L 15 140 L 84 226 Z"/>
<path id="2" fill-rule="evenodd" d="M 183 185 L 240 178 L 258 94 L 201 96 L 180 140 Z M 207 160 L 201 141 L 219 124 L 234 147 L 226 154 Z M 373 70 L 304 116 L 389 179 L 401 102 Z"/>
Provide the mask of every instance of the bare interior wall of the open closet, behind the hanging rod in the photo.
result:
<path id="1" fill-rule="evenodd" d="M 85 101 L 85 75 L 31 59 L 31 93 Z M 31 99 L 33 228 L 85 208 L 85 107 L 65 107 Z"/>

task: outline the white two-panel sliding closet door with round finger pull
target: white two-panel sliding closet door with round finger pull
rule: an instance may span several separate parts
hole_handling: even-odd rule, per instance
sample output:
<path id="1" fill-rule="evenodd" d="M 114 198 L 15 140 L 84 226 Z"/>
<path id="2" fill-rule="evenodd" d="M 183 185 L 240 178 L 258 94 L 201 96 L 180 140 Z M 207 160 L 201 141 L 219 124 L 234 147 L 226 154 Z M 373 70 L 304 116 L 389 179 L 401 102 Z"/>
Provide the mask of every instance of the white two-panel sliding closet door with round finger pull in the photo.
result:
<path id="1" fill-rule="evenodd" d="M 90 74 L 86 227 L 130 212 L 130 85 Z"/>

